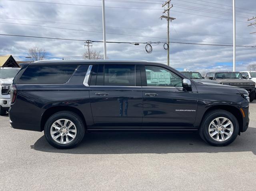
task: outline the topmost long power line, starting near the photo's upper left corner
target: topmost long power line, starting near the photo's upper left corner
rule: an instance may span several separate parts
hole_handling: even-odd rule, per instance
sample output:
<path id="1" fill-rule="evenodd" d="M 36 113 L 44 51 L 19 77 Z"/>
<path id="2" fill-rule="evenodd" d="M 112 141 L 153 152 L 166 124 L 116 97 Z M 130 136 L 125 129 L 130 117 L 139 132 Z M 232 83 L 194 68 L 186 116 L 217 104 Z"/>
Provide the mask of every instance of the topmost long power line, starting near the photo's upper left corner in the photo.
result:
<path id="1" fill-rule="evenodd" d="M 40 1 L 26 1 L 26 0 L 6 0 L 6 1 L 48 3 L 48 4 L 60 4 L 60 5 L 72 5 L 72 6 L 87 6 L 87 7 L 100 7 L 100 8 L 102 8 L 102 6 L 94 6 L 94 5 L 66 4 L 66 3 L 53 3 L 53 2 L 40 2 Z M 157 8 L 130 8 L 130 7 L 108 7 L 108 6 L 106 6 L 105 8 L 138 9 L 138 10 L 161 10 L 161 9 L 157 9 Z M 179 12 L 179 11 L 173 11 L 173 12 Z M 198 15 L 198 14 L 192 14 L 192 13 L 185 13 L 185 12 L 179 12 L 179 13 L 191 14 L 191 15 L 196 15 L 196 16 L 203 16 L 203 17 L 208 17 L 208 18 L 216 18 L 216 19 L 232 21 L 231 19 L 224 19 L 224 18 L 211 17 L 211 16 L 205 16 L 205 15 Z M 236 22 L 247 23 L 247 22 L 244 22 L 244 21 L 236 21 Z"/>

